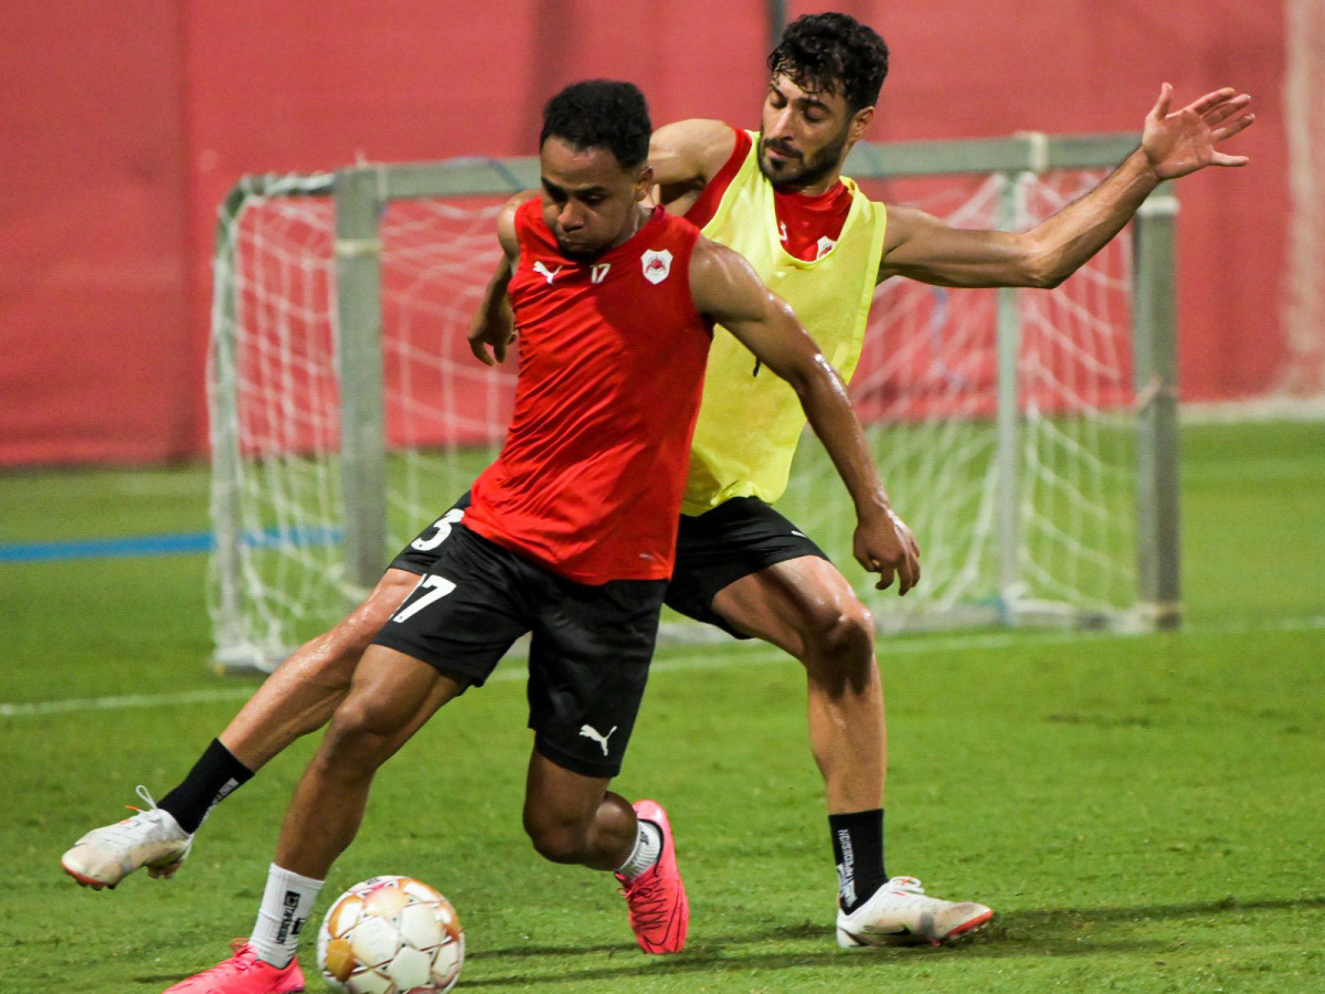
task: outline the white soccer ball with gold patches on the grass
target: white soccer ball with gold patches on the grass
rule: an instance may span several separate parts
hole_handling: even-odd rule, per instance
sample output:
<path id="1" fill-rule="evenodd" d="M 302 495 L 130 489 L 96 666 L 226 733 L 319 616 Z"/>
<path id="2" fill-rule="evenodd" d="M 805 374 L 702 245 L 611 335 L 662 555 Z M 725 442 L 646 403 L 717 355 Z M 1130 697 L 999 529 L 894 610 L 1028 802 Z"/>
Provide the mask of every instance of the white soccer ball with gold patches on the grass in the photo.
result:
<path id="1" fill-rule="evenodd" d="M 456 909 L 408 876 L 355 884 L 318 932 L 318 969 L 347 994 L 441 994 L 456 986 L 464 960 Z"/>

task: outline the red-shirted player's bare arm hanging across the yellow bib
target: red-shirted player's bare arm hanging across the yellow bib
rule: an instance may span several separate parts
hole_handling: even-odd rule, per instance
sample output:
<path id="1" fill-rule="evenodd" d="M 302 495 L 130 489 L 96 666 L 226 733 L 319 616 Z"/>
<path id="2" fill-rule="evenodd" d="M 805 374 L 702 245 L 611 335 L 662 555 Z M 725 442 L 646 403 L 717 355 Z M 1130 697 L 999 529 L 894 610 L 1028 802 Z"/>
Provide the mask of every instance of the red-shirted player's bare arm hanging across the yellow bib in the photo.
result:
<path id="1" fill-rule="evenodd" d="M 810 425 L 856 505 L 856 559 L 880 574 L 880 590 L 893 582 L 896 573 L 897 592 L 906 594 L 920 579 L 920 549 L 892 510 L 841 376 L 786 301 L 731 249 L 706 239 L 698 241 L 690 257 L 690 293 L 701 313 L 721 322 L 762 366 L 796 391 Z"/>

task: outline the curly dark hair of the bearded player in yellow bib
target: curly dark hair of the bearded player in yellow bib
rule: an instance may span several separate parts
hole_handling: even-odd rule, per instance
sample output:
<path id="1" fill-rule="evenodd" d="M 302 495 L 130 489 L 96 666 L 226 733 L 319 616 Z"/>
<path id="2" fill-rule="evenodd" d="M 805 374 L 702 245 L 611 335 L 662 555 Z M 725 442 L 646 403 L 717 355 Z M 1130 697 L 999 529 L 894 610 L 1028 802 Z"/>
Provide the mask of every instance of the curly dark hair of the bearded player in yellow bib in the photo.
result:
<path id="1" fill-rule="evenodd" d="M 888 45 L 873 28 L 845 13 L 807 13 L 782 33 L 768 72 L 806 93 L 840 93 L 855 114 L 878 101 L 888 76 Z"/>

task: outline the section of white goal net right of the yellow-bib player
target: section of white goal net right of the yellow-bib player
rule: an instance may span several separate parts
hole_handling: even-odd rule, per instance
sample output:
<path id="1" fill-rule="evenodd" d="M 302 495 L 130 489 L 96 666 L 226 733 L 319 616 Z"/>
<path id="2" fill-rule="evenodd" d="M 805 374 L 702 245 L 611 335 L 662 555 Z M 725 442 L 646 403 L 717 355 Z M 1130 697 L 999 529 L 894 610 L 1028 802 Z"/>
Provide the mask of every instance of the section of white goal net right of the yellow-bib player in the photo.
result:
<path id="1" fill-rule="evenodd" d="M 1014 225 L 1053 213 L 1098 179 L 1023 176 Z M 943 193 L 929 192 L 931 183 L 864 186 L 957 227 L 994 228 L 1007 184 L 991 176 Z M 816 441 L 802 447 L 782 506 L 869 592 L 884 628 L 1081 616 L 1133 602 L 1129 264 L 1124 236 L 1052 292 L 904 280 L 880 288 L 852 395 L 893 502 L 920 539 L 924 583 L 898 600 L 849 565 L 851 506 Z M 1020 315 L 1015 453 L 1002 459 L 1000 293 Z M 1012 489 L 1000 478 L 1003 460 Z M 1002 509 L 1006 498 L 1012 510 Z"/>

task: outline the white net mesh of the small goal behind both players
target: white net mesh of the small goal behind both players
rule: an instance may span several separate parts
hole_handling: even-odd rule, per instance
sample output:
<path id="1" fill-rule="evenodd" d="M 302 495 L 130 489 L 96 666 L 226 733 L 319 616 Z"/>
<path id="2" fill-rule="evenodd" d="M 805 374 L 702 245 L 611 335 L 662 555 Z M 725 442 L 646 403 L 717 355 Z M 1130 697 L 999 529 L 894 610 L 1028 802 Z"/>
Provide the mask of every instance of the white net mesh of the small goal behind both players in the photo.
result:
<path id="1" fill-rule="evenodd" d="M 1097 182 L 1024 176 L 1026 227 Z M 864 183 L 961 227 L 996 225 L 1010 180 Z M 500 199 L 392 201 L 382 219 L 388 549 L 383 565 L 492 460 L 514 376 L 469 354 L 465 331 L 497 262 Z M 1002 208 L 1002 209 L 1006 209 Z M 250 197 L 217 264 L 212 368 L 217 660 L 268 664 L 329 627 L 362 591 L 339 538 L 334 219 L 326 196 Z M 816 440 L 779 508 L 856 580 L 890 628 L 1080 616 L 1136 598 L 1130 244 L 1117 239 L 1056 290 L 877 294 L 852 383 L 880 467 L 924 551 L 905 600 L 851 562 L 852 512 Z M 998 325 L 1020 311 L 1019 415 L 999 457 Z M 232 304 L 227 304 L 231 301 Z M 1006 319 L 1006 318 L 1004 318 Z M 1014 455 L 1015 453 L 1015 455 Z M 1011 460 L 1011 461 L 1008 461 Z M 1011 467 L 1011 472 L 1003 467 Z M 1011 481 L 1011 484 L 1008 482 Z M 1011 510 L 1000 501 L 1011 498 Z"/>

